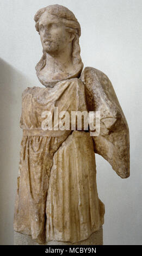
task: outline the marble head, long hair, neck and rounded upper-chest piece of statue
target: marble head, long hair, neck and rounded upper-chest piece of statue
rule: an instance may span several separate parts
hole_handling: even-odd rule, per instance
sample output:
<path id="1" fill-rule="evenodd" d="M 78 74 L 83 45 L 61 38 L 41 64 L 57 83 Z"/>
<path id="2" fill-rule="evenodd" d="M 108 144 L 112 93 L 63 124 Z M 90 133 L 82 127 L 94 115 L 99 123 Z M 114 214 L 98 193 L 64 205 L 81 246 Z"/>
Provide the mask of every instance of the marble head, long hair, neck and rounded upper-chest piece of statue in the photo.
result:
<path id="1" fill-rule="evenodd" d="M 40 9 L 34 17 L 40 34 L 43 55 L 36 65 L 36 75 L 44 86 L 79 77 L 83 69 L 79 37 L 81 26 L 67 8 L 55 4 Z"/>

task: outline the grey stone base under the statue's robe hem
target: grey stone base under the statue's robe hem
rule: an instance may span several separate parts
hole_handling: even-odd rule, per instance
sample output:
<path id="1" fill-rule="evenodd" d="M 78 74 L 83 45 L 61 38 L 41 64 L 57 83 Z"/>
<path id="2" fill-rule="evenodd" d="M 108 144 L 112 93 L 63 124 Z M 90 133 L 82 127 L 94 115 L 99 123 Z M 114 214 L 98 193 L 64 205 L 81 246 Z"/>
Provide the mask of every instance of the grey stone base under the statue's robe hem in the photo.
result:
<path id="1" fill-rule="evenodd" d="M 24 235 L 14 231 L 14 245 L 39 245 L 30 235 Z M 94 232 L 86 240 L 78 243 L 61 242 L 61 241 L 48 241 L 44 245 L 103 245 L 103 229 Z"/>

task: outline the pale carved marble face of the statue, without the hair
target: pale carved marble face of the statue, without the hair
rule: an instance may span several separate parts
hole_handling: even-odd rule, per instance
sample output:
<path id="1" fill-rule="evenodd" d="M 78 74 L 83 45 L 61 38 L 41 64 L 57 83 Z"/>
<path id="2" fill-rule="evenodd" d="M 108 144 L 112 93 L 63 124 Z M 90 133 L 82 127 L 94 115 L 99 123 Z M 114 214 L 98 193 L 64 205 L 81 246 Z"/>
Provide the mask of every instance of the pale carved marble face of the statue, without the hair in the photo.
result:
<path id="1" fill-rule="evenodd" d="M 39 34 L 44 50 L 49 54 L 58 54 L 70 42 L 70 33 L 66 31 L 63 23 L 45 11 L 39 20 Z"/>

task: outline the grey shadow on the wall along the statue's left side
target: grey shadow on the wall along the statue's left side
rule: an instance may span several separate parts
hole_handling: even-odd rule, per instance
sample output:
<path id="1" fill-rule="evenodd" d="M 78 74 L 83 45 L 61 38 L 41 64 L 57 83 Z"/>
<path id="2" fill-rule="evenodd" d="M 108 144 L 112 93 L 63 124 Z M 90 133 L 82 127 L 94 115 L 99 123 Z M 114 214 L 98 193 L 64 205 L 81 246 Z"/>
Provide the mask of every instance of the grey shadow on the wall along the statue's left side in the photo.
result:
<path id="1" fill-rule="evenodd" d="M 32 87 L 21 72 L 0 58 L 0 245 L 13 245 L 13 215 L 22 131 L 21 96 Z"/>

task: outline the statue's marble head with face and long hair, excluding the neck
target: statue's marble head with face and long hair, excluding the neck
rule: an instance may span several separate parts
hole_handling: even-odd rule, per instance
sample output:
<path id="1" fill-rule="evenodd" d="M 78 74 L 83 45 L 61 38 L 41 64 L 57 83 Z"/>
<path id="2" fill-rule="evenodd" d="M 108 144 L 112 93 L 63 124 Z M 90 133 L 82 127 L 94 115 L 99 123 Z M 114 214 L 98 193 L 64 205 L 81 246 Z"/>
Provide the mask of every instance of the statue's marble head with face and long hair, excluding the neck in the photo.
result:
<path id="1" fill-rule="evenodd" d="M 55 56 L 71 44 L 71 59 L 73 65 L 76 66 L 76 70 L 78 70 L 77 75 L 79 76 L 83 69 L 79 47 L 81 26 L 75 15 L 66 7 L 54 4 L 38 10 L 34 20 L 43 47 L 42 58 L 35 67 L 36 75 L 39 77 L 40 71 L 44 69 L 47 53 Z"/>

